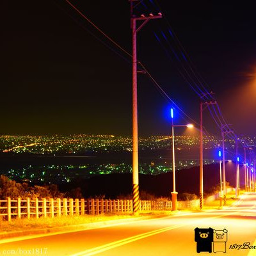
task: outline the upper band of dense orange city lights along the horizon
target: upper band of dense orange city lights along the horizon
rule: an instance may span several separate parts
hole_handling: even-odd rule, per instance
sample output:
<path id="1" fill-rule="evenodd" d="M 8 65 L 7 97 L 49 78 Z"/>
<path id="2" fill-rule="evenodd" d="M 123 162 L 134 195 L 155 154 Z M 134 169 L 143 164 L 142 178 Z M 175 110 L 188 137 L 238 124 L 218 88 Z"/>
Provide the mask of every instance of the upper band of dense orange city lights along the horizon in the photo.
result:
<path id="1" fill-rule="evenodd" d="M 170 148 L 170 136 L 150 136 L 139 138 L 140 150 Z M 241 138 L 249 145 L 256 145 L 256 138 Z M 204 137 L 204 148 L 219 148 L 221 139 Z M 235 141 L 225 139 L 227 148 L 234 148 Z M 196 136 L 175 136 L 175 147 L 193 149 L 199 147 Z M 0 152 L 17 154 L 86 154 L 86 152 L 132 151 L 132 138 L 113 135 L 53 135 L 53 136 L 9 136 L 0 137 Z"/>

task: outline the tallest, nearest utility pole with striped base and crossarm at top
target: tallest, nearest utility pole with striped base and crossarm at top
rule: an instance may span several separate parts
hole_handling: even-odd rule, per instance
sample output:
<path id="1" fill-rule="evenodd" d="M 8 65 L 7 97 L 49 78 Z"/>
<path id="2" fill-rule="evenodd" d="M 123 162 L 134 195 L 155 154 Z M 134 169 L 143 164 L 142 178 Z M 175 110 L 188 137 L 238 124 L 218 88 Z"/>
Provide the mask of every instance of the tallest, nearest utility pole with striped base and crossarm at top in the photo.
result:
<path id="1" fill-rule="evenodd" d="M 148 16 L 141 14 L 136 17 L 133 14 L 134 3 L 138 0 L 130 0 L 131 2 L 131 29 L 132 29 L 132 211 L 137 214 L 139 211 L 139 163 L 138 163 L 138 97 L 137 97 L 137 46 L 136 36 L 145 24 L 151 19 L 162 18 L 162 14 Z M 140 4 L 140 3 L 139 3 Z M 143 22 L 136 28 L 136 21 Z"/>

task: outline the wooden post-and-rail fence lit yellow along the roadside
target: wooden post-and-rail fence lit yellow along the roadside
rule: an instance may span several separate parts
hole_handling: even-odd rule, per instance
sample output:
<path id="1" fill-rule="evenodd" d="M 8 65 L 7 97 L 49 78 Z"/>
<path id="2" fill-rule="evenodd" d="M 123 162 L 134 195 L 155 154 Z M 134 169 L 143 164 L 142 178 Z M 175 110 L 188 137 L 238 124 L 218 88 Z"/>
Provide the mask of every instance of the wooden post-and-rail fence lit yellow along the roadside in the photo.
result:
<path id="1" fill-rule="evenodd" d="M 199 200 L 178 201 L 178 209 L 191 209 L 199 207 Z M 172 201 L 140 200 L 140 211 L 171 210 Z M 12 218 L 40 218 L 54 216 L 72 216 L 84 214 L 101 214 L 104 212 L 132 212 L 132 200 L 106 200 L 106 199 L 67 199 L 67 198 L 35 198 L 31 200 L 0 200 L 0 217 L 11 221 Z"/>

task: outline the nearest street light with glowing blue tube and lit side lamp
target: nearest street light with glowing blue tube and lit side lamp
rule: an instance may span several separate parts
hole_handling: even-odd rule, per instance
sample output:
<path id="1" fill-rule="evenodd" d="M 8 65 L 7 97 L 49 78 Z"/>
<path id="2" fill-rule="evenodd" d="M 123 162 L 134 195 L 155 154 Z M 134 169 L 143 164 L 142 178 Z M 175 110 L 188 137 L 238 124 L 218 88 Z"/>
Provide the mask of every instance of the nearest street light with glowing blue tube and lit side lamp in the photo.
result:
<path id="1" fill-rule="evenodd" d="M 174 127 L 194 127 L 193 124 L 187 125 L 173 125 L 173 108 L 171 108 L 172 117 L 172 180 L 173 180 L 173 191 L 172 191 L 172 211 L 177 211 L 177 194 L 176 191 L 176 181 L 175 181 L 175 150 L 174 150 Z"/>

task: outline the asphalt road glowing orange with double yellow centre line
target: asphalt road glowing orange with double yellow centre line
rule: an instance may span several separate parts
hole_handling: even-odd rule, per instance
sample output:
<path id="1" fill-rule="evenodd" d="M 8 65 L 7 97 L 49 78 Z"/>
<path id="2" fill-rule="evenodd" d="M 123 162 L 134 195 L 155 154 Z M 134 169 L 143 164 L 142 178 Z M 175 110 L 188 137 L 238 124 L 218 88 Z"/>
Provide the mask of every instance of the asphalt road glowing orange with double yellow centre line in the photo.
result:
<path id="1" fill-rule="evenodd" d="M 226 229 L 227 253 L 197 253 L 194 231 L 196 227 Z M 226 234 L 223 231 L 221 233 Z M 92 230 L 29 239 L 27 237 L 19 241 L 12 239 L 8 243 L 0 241 L 0 255 L 256 256 L 255 239 L 256 193 L 250 193 L 243 195 L 233 207 L 219 211 L 182 212 L 176 216 L 133 221 Z M 253 244 L 255 249 L 249 249 Z M 216 250 L 225 250 L 223 240 L 217 245 Z"/>

